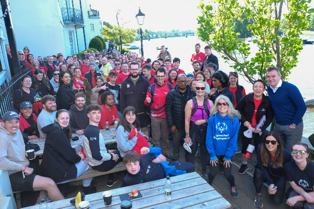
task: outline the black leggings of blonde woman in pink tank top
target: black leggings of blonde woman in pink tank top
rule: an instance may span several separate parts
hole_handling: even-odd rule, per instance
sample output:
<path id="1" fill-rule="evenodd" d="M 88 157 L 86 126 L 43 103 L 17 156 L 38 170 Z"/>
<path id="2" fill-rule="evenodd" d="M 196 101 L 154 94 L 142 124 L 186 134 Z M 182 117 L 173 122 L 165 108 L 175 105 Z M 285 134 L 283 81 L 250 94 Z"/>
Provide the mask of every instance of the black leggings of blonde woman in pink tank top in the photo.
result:
<path id="1" fill-rule="evenodd" d="M 208 159 L 208 152 L 206 148 L 206 141 L 205 139 L 203 142 L 197 142 L 196 141 L 196 133 L 194 131 L 192 137 L 192 146 L 191 146 L 191 153 L 187 154 L 187 162 L 193 163 L 195 162 L 195 154 L 197 151 L 198 143 L 199 143 L 199 149 L 200 149 L 200 159 L 201 159 L 201 165 L 202 165 L 202 171 L 206 171 L 206 164 Z"/>

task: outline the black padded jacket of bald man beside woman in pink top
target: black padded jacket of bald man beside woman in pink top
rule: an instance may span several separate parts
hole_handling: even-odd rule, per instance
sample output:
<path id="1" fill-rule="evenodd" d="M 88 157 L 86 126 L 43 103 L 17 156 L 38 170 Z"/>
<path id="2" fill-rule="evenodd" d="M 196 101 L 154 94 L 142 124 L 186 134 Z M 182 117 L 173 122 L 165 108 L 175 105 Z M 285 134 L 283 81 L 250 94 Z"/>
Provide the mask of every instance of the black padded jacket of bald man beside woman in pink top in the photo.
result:
<path id="1" fill-rule="evenodd" d="M 179 93 L 179 87 L 175 86 L 166 96 L 166 118 L 169 127 L 175 125 L 175 127 L 180 130 L 184 129 L 184 108 L 187 101 L 191 100 L 193 97 L 196 97 L 196 93 L 192 88 L 187 85 L 187 100 L 182 101 L 182 98 Z M 182 122 L 183 121 L 183 122 Z M 183 123 L 183 126 L 182 126 Z"/>

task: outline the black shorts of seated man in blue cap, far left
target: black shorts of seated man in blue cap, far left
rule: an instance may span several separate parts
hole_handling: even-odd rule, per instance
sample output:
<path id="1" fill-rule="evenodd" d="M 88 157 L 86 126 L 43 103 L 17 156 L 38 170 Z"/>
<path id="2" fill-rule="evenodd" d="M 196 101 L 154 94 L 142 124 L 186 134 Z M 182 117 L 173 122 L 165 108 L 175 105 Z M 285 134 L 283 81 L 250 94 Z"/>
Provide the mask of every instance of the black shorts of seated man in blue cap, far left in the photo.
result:
<path id="1" fill-rule="evenodd" d="M 23 174 L 21 171 L 10 174 L 9 179 L 11 182 L 12 191 L 13 192 L 34 191 L 33 182 L 38 171 L 38 166 L 39 161 L 38 157 L 36 157 L 36 159 L 30 161 L 28 166 L 29 168 L 34 169 L 31 175 L 25 175 L 25 178 L 23 178 Z"/>

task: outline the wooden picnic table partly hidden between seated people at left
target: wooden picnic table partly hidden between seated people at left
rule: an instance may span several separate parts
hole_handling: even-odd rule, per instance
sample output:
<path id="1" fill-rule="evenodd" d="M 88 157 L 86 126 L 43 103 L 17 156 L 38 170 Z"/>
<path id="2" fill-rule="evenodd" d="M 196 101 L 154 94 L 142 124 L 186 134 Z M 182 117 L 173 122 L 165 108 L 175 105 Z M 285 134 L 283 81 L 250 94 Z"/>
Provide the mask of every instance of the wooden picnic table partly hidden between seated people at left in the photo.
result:
<path id="1" fill-rule="evenodd" d="M 106 144 L 112 144 L 112 143 L 116 143 L 116 138 L 113 138 L 112 135 L 115 133 L 115 128 L 109 128 L 108 131 L 106 131 L 105 129 L 100 130 L 100 133 L 103 135 L 104 139 L 105 139 L 105 143 Z M 73 141 L 71 139 L 71 146 L 75 147 L 78 144 L 83 144 L 83 135 L 77 135 L 76 133 L 72 134 L 72 137 L 78 136 L 79 139 L 77 141 Z M 36 155 L 42 155 L 43 154 L 43 149 L 45 146 L 45 140 L 44 139 L 29 139 L 30 143 L 34 143 L 34 144 L 38 144 L 40 150 L 38 150 L 36 152 Z"/>

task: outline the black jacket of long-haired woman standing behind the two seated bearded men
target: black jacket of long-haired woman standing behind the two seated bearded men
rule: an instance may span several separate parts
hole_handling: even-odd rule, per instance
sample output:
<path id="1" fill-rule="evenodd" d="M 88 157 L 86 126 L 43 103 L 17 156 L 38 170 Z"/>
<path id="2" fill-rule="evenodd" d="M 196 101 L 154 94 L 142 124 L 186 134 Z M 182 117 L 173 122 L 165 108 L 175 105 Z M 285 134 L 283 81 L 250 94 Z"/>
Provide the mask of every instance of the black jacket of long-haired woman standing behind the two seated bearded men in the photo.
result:
<path id="1" fill-rule="evenodd" d="M 69 110 L 71 105 L 74 104 L 75 94 L 69 85 L 60 84 L 57 95 L 56 104 L 57 109 Z"/>

